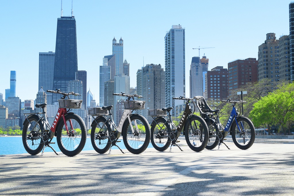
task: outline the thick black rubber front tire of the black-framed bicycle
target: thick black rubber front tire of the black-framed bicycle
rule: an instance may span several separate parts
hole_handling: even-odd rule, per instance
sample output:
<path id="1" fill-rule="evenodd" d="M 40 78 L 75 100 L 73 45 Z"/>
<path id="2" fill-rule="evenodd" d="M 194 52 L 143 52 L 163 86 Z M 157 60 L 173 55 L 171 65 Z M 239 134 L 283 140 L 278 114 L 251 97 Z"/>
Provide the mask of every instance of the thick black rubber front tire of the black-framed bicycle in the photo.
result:
<path id="1" fill-rule="evenodd" d="M 189 137 L 189 135 L 190 135 L 189 128 L 191 127 L 190 121 L 191 121 L 191 124 L 192 125 L 193 125 L 193 121 L 200 122 L 200 125 L 197 128 L 199 130 L 203 131 L 203 133 L 204 133 L 204 139 L 201 142 L 201 145 L 199 145 L 198 147 L 196 147 L 193 144 L 191 144 L 191 141 L 190 141 L 190 137 Z M 191 150 L 193 150 L 195 152 L 200 152 L 200 151 L 202 151 L 206 147 L 207 142 L 208 142 L 208 135 L 209 135 L 208 134 L 208 127 L 207 127 L 207 124 L 204 121 L 204 119 L 201 118 L 200 116 L 192 115 L 192 116 L 190 116 L 190 121 L 189 121 L 189 119 L 187 119 L 186 122 L 185 122 L 185 125 L 184 125 L 184 132 L 185 132 L 186 142 L 187 142 L 188 146 L 191 148 Z"/>

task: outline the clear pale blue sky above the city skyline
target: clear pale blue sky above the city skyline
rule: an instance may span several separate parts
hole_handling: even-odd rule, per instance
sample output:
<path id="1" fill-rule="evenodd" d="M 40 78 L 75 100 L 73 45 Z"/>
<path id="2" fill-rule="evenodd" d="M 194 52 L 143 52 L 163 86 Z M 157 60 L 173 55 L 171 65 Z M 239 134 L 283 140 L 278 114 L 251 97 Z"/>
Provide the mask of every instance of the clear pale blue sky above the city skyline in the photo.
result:
<path id="1" fill-rule="evenodd" d="M 38 92 L 39 52 L 55 52 L 61 1 L 4 1 L 0 12 L 0 92 L 10 88 L 16 71 L 16 96 L 35 99 Z M 123 58 L 130 63 L 131 87 L 144 64 L 164 67 L 164 36 L 172 25 L 186 32 L 186 84 L 191 59 L 202 49 L 209 67 L 227 68 L 235 59 L 257 58 L 267 33 L 289 34 L 290 1 L 76 1 L 78 70 L 87 71 L 98 103 L 99 66 L 112 54 L 112 39 L 123 39 Z M 63 0 L 63 15 L 71 14 L 71 1 Z M 189 86 L 186 85 L 186 96 Z"/>

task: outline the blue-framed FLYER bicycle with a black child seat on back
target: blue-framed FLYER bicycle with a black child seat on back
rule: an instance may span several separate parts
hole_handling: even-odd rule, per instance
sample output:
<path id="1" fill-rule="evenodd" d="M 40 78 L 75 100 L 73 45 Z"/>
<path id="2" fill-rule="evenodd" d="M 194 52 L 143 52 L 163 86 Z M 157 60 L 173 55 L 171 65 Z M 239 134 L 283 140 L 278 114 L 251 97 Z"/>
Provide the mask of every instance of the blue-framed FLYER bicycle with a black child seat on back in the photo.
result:
<path id="1" fill-rule="evenodd" d="M 197 100 L 197 107 L 200 111 L 200 115 L 208 126 L 209 138 L 206 149 L 212 150 L 217 145 L 219 149 L 220 144 L 225 144 L 223 140 L 225 140 L 225 137 L 228 135 L 229 131 L 233 142 L 238 148 L 246 150 L 252 146 L 255 140 L 255 129 L 253 123 L 247 117 L 240 116 L 240 113 L 236 108 L 236 105 L 238 104 L 241 110 L 240 103 L 246 103 L 245 101 L 232 101 L 231 99 L 222 101 L 225 103 L 233 103 L 231 115 L 224 127 L 220 123 L 218 115 L 220 110 L 211 109 L 205 99 L 201 96 L 196 96 L 195 98 Z M 226 144 L 225 146 L 230 149 Z"/>

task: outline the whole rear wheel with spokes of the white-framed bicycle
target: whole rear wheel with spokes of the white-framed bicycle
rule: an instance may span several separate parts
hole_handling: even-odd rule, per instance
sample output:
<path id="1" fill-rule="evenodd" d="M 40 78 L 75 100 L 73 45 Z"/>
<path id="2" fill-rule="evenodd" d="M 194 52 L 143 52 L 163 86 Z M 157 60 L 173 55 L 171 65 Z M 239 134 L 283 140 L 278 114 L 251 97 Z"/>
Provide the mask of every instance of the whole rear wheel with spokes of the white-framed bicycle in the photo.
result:
<path id="1" fill-rule="evenodd" d="M 111 146 L 109 130 L 110 126 L 106 118 L 98 117 L 93 121 L 91 143 L 94 150 L 100 154 L 107 152 Z"/>

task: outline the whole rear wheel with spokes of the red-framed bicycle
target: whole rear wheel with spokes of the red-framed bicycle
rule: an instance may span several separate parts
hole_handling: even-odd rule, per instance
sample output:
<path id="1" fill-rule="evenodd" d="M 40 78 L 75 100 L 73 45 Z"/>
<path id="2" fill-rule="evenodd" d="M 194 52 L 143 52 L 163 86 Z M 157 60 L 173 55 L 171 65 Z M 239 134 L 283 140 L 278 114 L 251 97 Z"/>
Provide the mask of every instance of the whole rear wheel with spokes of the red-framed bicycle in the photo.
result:
<path id="1" fill-rule="evenodd" d="M 31 155 L 39 154 L 44 147 L 43 139 L 41 139 L 43 125 L 39 120 L 40 118 L 35 115 L 30 116 L 24 121 L 24 127 L 22 129 L 24 149 Z"/>

